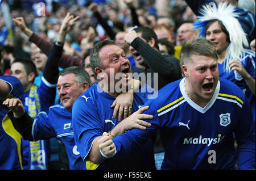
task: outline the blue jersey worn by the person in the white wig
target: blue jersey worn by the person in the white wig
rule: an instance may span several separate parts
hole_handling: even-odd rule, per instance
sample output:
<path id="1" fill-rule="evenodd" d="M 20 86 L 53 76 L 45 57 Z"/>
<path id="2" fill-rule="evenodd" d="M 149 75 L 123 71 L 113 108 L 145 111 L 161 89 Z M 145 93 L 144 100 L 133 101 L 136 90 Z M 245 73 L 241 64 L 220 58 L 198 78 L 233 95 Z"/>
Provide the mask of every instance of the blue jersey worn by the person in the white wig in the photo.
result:
<path id="1" fill-rule="evenodd" d="M 255 54 L 253 56 L 253 54 L 245 53 L 245 56 L 243 57 L 241 62 L 246 71 L 251 75 L 251 77 L 255 79 Z M 241 75 L 237 73 L 237 71 L 226 72 L 224 68 L 225 62 L 222 64 L 218 64 L 218 71 L 220 77 L 228 79 L 231 82 L 234 82 L 238 87 L 240 87 L 240 89 L 242 89 L 243 92 L 245 92 L 245 95 L 250 102 L 251 110 L 253 112 L 253 120 L 255 122 L 256 102 L 253 92 L 251 92 L 249 86 L 247 86 L 247 83 L 245 82 L 245 79 L 243 79 Z"/>

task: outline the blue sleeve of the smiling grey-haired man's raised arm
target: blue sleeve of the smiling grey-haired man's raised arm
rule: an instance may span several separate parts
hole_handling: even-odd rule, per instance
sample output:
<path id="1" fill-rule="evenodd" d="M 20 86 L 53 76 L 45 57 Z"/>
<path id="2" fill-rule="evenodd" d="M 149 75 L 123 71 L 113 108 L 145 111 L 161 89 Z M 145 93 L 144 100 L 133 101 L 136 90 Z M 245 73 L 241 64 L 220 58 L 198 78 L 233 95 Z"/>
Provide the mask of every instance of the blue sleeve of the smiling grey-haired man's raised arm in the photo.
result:
<path id="1" fill-rule="evenodd" d="M 52 116 L 51 110 L 49 114 L 40 112 L 37 119 L 34 120 L 32 127 L 32 137 L 34 140 L 45 140 L 56 137 L 55 130 L 51 124 L 55 119 L 56 117 Z"/>

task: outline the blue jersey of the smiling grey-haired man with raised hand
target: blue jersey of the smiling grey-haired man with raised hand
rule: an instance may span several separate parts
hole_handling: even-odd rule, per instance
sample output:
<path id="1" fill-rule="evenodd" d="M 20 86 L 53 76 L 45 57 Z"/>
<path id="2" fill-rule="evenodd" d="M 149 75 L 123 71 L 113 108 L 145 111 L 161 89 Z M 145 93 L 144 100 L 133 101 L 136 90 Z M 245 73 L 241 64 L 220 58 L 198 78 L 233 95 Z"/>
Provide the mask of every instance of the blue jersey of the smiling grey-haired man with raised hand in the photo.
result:
<path id="1" fill-rule="evenodd" d="M 34 140 L 44 140 L 57 137 L 65 145 L 69 159 L 69 169 L 85 170 L 86 163 L 82 161 L 74 140 L 71 112 L 62 104 L 49 108 L 49 112 L 40 112 L 34 120 L 32 137 Z"/>

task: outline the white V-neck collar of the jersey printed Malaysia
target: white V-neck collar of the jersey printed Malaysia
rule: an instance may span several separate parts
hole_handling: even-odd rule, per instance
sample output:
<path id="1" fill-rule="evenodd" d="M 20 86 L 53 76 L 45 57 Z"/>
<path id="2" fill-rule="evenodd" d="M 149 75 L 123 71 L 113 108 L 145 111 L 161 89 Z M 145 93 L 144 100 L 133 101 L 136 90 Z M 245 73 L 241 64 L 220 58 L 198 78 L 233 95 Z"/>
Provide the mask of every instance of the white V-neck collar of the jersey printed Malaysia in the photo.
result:
<path id="1" fill-rule="evenodd" d="M 193 100 L 191 100 L 189 98 L 189 96 L 187 95 L 187 93 L 185 92 L 185 87 L 184 87 L 184 81 L 185 81 L 185 77 L 180 81 L 180 91 L 181 94 L 183 95 L 184 99 L 188 102 L 188 104 L 193 107 L 195 110 L 201 112 L 201 113 L 205 113 L 209 110 L 210 107 L 212 107 L 212 105 L 214 104 L 215 100 L 217 99 L 218 96 L 218 92 L 220 92 L 220 81 L 218 81 L 217 86 L 216 86 L 216 90 L 214 91 L 214 94 L 212 96 L 212 99 L 210 99 L 210 102 L 203 108 L 200 107 L 199 105 L 197 105 L 195 102 L 193 102 Z"/>

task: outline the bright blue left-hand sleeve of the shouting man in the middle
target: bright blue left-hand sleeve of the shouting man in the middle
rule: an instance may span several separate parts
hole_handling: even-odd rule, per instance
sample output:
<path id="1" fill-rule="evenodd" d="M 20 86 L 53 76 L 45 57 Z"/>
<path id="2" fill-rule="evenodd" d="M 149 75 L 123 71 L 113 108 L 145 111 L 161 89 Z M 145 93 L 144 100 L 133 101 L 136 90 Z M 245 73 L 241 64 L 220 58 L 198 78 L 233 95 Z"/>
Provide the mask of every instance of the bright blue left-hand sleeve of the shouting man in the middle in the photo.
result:
<path id="1" fill-rule="evenodd" d="M 77 150 L 82 159 L 88 155 L 94 138 L 102 136 L 103 123 L 92 99 L 78 98 L 72 108 L 72 124 Z"/>

